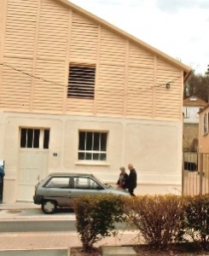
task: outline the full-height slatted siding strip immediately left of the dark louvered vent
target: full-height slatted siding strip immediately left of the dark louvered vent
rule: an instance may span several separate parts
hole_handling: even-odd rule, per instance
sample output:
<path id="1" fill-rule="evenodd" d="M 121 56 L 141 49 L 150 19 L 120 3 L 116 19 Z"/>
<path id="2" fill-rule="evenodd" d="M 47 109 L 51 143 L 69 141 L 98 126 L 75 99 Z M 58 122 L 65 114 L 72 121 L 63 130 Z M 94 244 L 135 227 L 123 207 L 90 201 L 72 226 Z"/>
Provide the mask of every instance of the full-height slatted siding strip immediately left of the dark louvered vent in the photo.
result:
<path id="1" fill-rule="evenodd" d="M 68 10 L 59 3 L 42 0 L 39 7 L 32 110 L 62 111 L 63 91 L 67 84 L 65 60 L 68 38 Z"/>

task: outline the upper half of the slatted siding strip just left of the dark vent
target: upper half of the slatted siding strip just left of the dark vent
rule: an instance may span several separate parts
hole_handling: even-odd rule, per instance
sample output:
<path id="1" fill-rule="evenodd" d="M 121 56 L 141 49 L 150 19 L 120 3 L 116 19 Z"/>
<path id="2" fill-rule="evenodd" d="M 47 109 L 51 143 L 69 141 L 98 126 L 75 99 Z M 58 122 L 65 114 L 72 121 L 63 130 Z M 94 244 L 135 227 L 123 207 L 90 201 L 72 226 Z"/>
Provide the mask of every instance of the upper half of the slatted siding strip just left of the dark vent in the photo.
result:
<path id="1" fill-rule="evenodd" d="M 60 4 L 42 0 L 38 20 L 38 58 L 65 61 L 68 19 L 67 10 Z"/>

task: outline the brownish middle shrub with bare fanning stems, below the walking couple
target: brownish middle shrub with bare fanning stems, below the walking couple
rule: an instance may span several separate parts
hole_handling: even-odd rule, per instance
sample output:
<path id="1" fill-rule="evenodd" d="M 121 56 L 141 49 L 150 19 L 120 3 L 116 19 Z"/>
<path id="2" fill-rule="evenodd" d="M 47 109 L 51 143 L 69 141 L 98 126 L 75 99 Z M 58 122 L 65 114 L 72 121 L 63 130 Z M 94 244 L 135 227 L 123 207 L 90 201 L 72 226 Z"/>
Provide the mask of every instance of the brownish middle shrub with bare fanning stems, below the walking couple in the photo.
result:
<path id="1" fill-rule="evenodd" d="M 162 249 L 182 241 L 185 203 L 177 195 L 142 195 L 125 199 L 125 214 L 149 245 Z"/>

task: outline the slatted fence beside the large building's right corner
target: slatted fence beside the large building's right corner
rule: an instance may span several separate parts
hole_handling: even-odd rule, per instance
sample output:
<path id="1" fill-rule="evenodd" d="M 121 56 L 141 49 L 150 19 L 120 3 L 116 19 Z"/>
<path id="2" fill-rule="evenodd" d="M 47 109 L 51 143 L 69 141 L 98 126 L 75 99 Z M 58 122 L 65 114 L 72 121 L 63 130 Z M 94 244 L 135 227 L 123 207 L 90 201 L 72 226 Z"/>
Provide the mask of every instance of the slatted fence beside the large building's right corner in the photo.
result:
<path id="1" fill-rule="evenodd" d="M 183 195 L 209 193 L 209 154 L 183 152 Z"/>

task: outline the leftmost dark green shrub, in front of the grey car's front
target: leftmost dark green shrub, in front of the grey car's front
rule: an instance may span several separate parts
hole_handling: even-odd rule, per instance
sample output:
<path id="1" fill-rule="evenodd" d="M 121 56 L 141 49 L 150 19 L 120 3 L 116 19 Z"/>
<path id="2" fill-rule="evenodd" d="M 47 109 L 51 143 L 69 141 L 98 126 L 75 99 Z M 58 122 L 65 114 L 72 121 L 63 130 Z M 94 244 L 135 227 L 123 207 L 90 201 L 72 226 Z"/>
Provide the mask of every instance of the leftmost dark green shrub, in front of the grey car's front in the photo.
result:
<path id="1" fill-rule="evenodd" d="M 74 201 L 77 230 L 84 251 L 90 251 L 96 241 L 111 236 L 115 222 L 122 221 L 123 200 L 119 195 L 86 195 Z"/>

